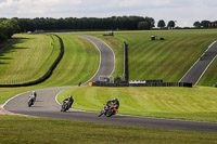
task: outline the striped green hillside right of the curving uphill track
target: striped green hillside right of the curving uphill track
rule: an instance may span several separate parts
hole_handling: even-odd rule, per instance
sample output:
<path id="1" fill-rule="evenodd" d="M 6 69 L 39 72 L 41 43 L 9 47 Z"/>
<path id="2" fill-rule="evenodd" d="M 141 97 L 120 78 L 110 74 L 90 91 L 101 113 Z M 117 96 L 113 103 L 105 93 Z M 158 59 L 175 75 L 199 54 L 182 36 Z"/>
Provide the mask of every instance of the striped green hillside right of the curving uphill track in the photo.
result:
<path id="1" fill-rule="evenodd" d="M 123 41 L 129 45 L 129 79 L 163 79 L 179 81 L 210 43 L 216 40 L 216 29 L 115 31 L 114 37 L 104 32 L 87 32 L 106 41 L 116 54 L 114 76 L 123 74 Z M 151 36 L 165 38 L 151 41 Z M 215 64 L 199 86 L 213 86 L 217 81 Z"/>

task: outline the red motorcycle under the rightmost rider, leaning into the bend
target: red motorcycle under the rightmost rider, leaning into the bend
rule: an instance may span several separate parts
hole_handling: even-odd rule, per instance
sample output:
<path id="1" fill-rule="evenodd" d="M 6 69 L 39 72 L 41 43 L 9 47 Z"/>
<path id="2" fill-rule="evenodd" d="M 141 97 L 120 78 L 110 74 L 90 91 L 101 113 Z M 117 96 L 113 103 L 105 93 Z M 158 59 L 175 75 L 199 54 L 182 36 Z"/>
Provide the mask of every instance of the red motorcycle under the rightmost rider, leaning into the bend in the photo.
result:
<path id="1" fill-rule="evenodd" d="M 104 108 L 98 114 L 98 117 L 101 117 L 102 115 L 106 117 L 111 117 L 112 115 L 117 114 L 118 112 L 118 106 L 117 105 L 110 105 L 110 104 L 104 104 Z"/>

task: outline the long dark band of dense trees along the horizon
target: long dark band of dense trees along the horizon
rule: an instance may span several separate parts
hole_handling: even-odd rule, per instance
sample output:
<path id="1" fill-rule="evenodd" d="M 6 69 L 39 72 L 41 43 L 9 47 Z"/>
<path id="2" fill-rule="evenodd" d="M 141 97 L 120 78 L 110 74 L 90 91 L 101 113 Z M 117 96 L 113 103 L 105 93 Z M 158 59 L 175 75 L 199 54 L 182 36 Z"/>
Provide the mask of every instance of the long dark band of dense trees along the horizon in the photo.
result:
<path id="1" fill-rule="evenodd" d="M 58 29 L 151 29 L 154 27 L 154 18 L 142 16 L 112 16 L 97 17 L 66 17 L 66 18 L 16 18 L 21 31 L 58 30 Z"/>

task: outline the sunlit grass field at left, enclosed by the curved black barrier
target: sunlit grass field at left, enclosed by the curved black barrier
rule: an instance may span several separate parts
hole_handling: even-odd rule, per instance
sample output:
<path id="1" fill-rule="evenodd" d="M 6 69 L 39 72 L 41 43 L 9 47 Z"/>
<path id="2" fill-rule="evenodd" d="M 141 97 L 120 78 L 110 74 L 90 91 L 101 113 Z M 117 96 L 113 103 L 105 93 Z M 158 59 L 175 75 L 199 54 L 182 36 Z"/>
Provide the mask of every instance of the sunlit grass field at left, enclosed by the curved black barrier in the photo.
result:
<path id="1" fill-rule="evenodd" d="M 22 83 L 42 77 L 60 53 L 46 35 L 15 35 L 16 43 L 0 53 L 0 82 Z M 53 47 L 54 45 L 54 47 Z"/>

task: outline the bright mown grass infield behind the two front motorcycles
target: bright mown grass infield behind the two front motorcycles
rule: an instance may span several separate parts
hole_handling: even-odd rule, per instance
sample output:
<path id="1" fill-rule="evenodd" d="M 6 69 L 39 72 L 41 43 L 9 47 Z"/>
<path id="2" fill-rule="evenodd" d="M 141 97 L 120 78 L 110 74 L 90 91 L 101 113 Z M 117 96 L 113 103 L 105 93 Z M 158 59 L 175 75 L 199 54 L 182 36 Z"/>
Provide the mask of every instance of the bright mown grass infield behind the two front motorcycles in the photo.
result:
<path id="1" fill-rule="evenodd" d="M 119 114 L 217 122 L 217 89 L 196 88 L 97 88 L 82 87 L 60 93 L 61 103 L 74 95 L 73 108 L 100 112 L 103 104 L 117 97 Z"/>

